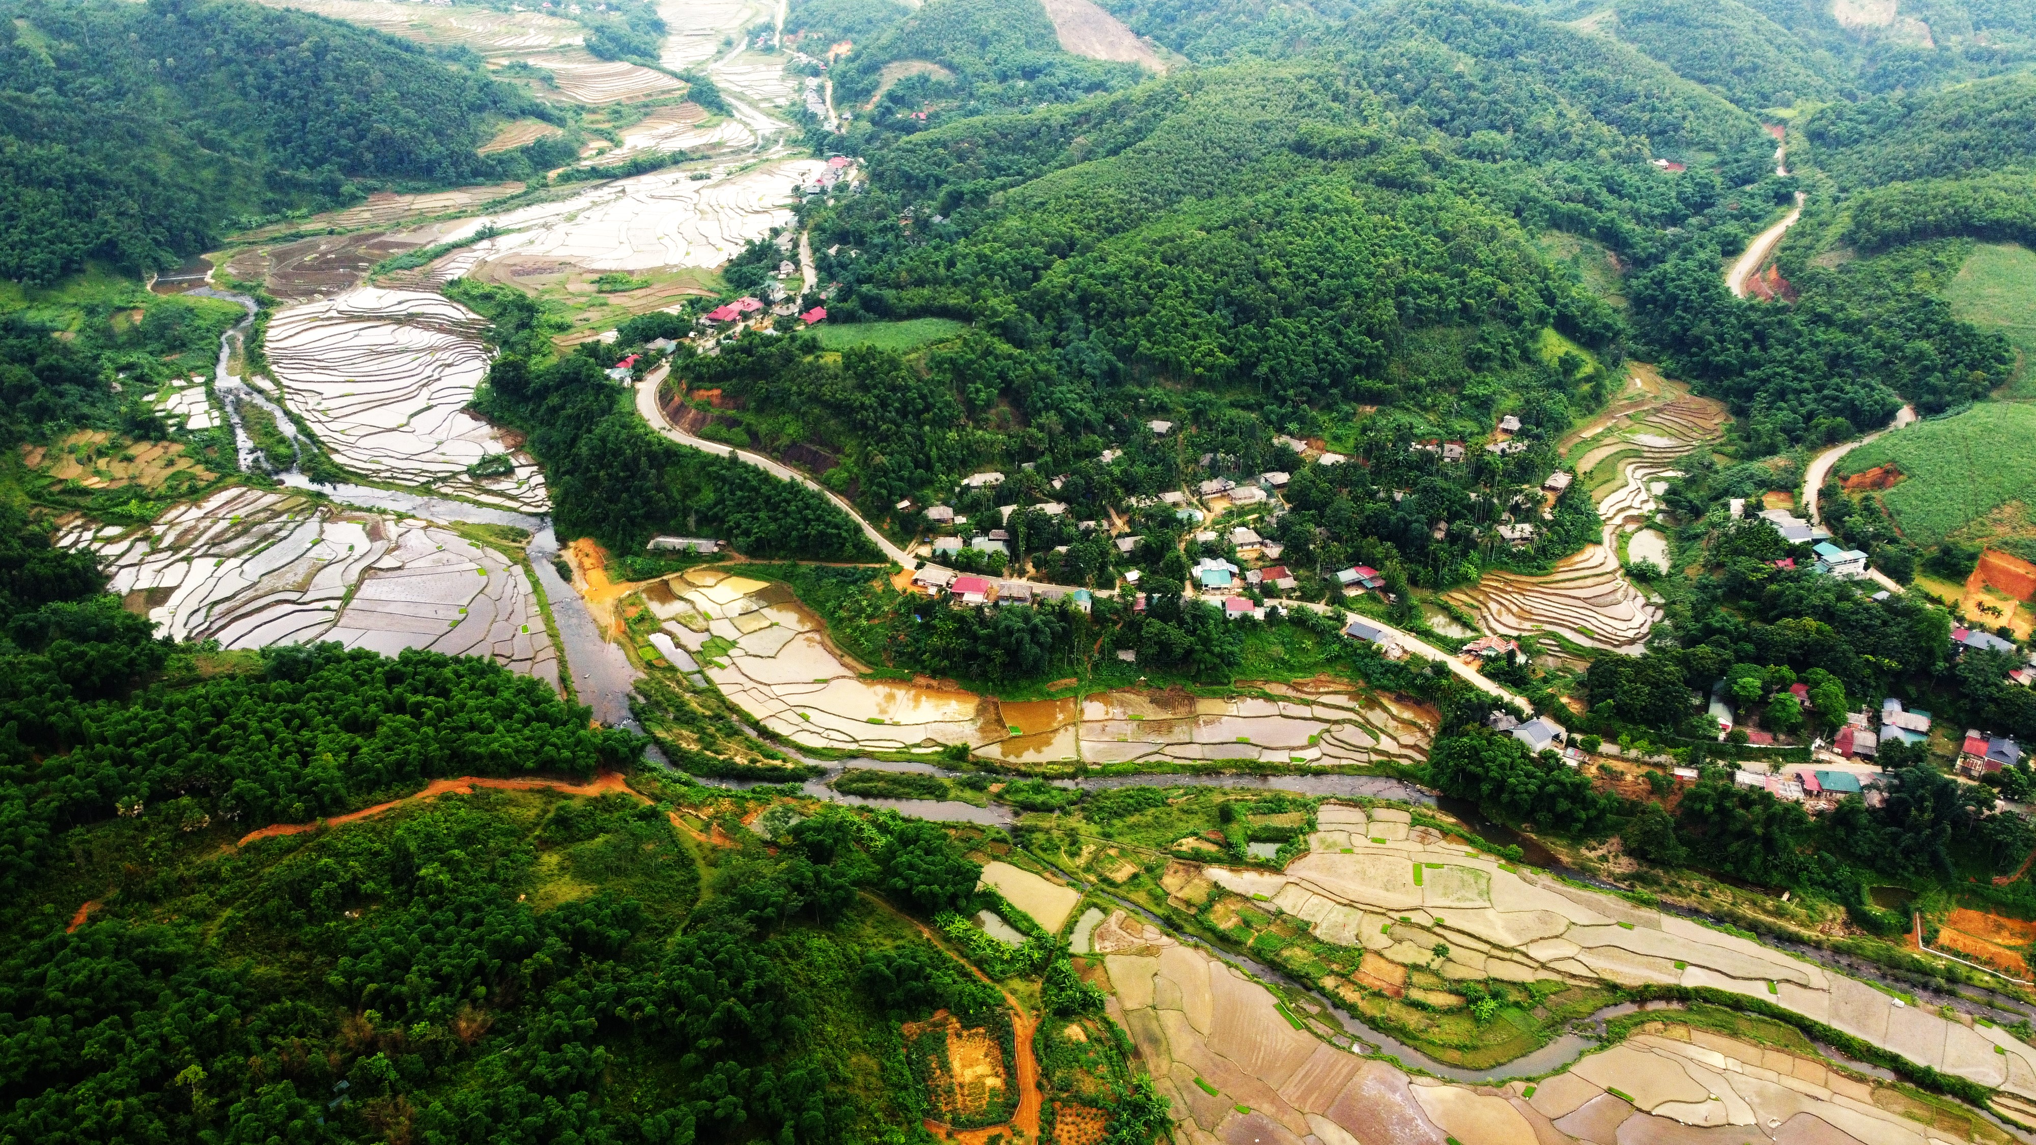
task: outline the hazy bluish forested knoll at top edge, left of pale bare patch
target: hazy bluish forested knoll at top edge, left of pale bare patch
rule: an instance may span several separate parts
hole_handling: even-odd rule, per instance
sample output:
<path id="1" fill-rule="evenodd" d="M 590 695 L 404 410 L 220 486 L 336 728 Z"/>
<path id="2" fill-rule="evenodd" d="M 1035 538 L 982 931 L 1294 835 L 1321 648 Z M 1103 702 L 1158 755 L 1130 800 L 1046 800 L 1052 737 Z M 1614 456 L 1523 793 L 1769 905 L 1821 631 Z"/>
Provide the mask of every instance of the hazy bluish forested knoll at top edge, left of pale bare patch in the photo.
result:
<path id="1" fill-rule="evenodd" d="M 1743 108 L 1832 96 L 1832 61 L 1739 0 L 1621 0 L 1619 39 Z"/>

